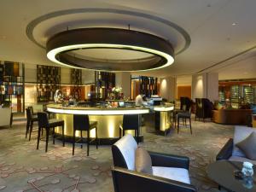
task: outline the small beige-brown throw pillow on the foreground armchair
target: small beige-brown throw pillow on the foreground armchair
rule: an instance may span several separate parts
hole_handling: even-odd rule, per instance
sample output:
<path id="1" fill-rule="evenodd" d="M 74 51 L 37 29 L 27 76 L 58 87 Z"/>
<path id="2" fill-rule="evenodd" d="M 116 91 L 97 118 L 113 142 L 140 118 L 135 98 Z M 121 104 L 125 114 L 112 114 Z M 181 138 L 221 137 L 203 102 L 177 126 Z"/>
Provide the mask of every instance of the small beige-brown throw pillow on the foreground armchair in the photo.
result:
<path id="1" fill-rule="evenodd" d="M 153 173 L 151 157 L 143 147 L 138 147 L 136 150 L 135 167 L 137 172 Z"/>

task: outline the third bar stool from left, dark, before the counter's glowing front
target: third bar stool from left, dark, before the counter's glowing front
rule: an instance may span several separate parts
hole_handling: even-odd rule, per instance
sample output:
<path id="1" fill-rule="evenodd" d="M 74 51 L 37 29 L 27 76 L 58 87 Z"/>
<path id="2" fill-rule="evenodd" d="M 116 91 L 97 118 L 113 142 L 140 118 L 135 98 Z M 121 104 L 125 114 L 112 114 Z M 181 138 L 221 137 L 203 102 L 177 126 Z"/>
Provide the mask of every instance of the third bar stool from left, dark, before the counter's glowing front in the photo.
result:
<path id="1" fill-rule="evenodd" d="M 97 121 L 89 121 L 88 114 L 74 114 L 73 115 L 73 154 L 75 143 L 79 143 L 79 141 L 83 140 L 82 131 L 87 131 L 87 156 L 89 156 L 89 148 L 90 148 L 90 130 L 96 129 L 96 148 L 98 148 L 98 130 L 97 130 Z M 81 131 L 81 137 L 78 141 L 76 141 L 75 133 L 76 131 Z M 83 144 L 81 143 L 81 148 L 83 148 Z"/>

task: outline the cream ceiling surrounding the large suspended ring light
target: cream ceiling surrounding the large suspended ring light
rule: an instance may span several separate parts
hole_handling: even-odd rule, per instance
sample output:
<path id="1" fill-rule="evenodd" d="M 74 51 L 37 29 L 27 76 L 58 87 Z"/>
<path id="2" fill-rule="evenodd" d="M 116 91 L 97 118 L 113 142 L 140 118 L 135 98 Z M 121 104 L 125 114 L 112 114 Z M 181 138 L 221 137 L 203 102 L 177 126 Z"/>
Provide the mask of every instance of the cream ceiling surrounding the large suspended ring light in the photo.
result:
<path id="1" fill-rule="evenodd" d="M 255 0 L 1 0 L 0 60 L 56 65 L 44 49 L 55 33 L 130 25 L 166 38 L 176 53 L 172 66 L 136 75 L 176 76 L 183 84 L 204 72 L 219 73 L 219 79 L 255 79 L 255 8 Z M 27 26 L 37 20 L 30 37 Z M 103 50 L 86 54 L 123 58 Z"/>

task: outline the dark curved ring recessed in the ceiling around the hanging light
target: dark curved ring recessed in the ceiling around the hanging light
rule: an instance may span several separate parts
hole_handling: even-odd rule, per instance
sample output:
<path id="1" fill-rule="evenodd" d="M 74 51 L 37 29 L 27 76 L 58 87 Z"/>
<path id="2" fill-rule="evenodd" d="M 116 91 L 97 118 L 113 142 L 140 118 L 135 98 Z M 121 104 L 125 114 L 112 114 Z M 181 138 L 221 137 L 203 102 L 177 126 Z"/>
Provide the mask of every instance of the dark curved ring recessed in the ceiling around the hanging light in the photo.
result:
<path id="1" fill-rule="evenodd" d="M 32 20 L 27 26 L 26 26 L 26 36 L 29 38 L 34 44 L 37 44 L 39 47 L 45 49 L 45 47 L 42 44 L 39 44 L 37 40 L 33 36 L 33 30 L 36 26 L 38 26 L 39 23 L 43 22 L 44 20 L 49 20 L 61 15 L 71 15 L 71 14 L 81 14 L 81 13 L 110 13 L 110 14 L 120 14 L 120 15 L 131 15 L 131 16 L 137 16 L 148 20 L 154 20 L 160 23 L 165 24 L 166 26 L 171 26 L 174 28 L 177 32 L 179 32 L 184 40 L 185 44 L 182 49 L 180 49 L 175 55 L 181 54 L 184 50 L 189 48 L 189 45 L 191 44 L 191 38 L 189 36 L 189 33 L 186 32 L 181 26 L 177 26 L 177 24 L 171 22 L 170 20 L 165 20 L 161 17 L 155 16 L 155 15 L 148 15 L 136 11 L 130 11 L 130 10 L 123 10 L 123 9 L 101 9 L 101 8 L 84 8 L 84 9 L 66 9 L 61 11 L 55 11 L 51 12 L 46 15 L 39 16 L 38 18 Z"/>

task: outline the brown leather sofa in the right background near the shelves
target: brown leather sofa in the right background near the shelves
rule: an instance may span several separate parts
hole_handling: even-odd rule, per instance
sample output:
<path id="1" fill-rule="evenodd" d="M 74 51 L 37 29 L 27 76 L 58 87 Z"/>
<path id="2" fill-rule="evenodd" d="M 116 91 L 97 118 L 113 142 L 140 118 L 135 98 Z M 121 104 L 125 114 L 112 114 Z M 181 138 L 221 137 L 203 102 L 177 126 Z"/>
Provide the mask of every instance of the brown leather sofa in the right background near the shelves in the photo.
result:
<path id="1" fill-rule="evenodd" d="M 218 124 L 247 125 L 252 118 L 252 109 L 218 109 L 212 110 L 212 121 Z"/>

